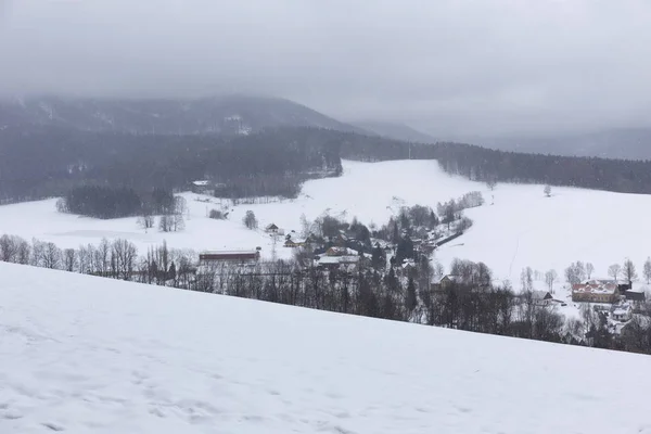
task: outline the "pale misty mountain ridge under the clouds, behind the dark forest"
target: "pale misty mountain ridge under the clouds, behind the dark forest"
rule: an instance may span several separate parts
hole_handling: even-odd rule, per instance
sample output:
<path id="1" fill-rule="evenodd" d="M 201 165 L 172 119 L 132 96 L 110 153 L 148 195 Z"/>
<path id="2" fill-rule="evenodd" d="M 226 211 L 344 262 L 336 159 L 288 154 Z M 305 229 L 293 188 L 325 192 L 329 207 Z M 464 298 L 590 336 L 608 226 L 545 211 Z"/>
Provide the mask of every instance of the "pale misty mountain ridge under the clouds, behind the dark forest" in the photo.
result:
<path id="1" fill-rule="evenodd" d="M 247 135 L 268 127 L 362 132 L 280 98 L 224 95 L 195 100 L 26 98 L 0 100 L 0 128 L 59 126 L 138 135 Z"/>

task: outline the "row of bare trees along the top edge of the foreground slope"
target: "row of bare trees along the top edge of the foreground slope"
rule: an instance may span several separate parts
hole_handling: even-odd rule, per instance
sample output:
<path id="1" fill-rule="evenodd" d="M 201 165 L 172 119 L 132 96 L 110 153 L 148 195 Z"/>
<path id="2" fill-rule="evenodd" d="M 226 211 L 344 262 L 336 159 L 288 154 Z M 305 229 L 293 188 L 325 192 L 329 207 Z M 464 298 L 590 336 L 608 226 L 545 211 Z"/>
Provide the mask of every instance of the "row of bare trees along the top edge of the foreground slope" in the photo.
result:
<path id="1" fill-rule="evenodd" d="M 255 265 L 197 266 L 191 251 L 161 246 L 138 255 L 127 240 L 60 250 L 55 244 L 12 235 L 0 238 L 0 260 L 267 301 L 321 310 L 412 321 L 481 333 L 651 353 L 648 322 L 636 319 L 622 336 L 605 319 L 586 308 L 583 321 L 565 319 L 525 288 L 494 285 L 482 263 L 455 260 L 449 284 L 433 284 L 443 269 L 425 258 L 409 271 L 386 272 L 363 265 L 356 269 L 320 269 L 297 260 Z M 531 269 L 523 272 L 532 279 Z"/>

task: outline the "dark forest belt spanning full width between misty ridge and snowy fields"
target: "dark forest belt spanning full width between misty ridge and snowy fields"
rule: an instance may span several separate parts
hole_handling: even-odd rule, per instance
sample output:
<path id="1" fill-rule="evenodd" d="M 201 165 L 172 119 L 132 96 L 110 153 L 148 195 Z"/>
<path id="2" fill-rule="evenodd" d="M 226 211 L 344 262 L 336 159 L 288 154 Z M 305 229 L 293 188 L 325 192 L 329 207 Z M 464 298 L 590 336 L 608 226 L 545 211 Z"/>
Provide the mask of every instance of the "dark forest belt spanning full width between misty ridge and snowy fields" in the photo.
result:
<path id="1" fill-rule="evenodd" d="M 471 180 L 548 183 L 651 194 L 651 162 L 524 154 L 470 144 L 408 143 L 326 128 L 268 128 L 247 136 L 133 135 L 54 126 L 0 130 L 0 201 L 64 195 L 99 184 L 137 192 L 209 179 L 231 199 L 295 197 L 310 178 L 337 176 L 342 158 L 437 159 Z M 370 189 L 371 187 L 369 187 Z"/>

